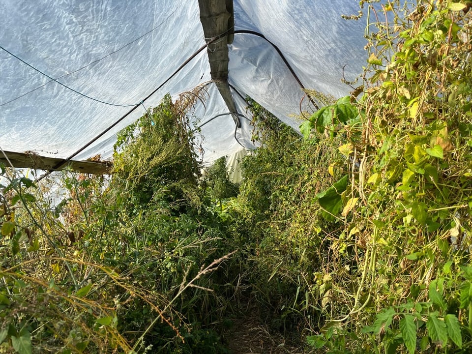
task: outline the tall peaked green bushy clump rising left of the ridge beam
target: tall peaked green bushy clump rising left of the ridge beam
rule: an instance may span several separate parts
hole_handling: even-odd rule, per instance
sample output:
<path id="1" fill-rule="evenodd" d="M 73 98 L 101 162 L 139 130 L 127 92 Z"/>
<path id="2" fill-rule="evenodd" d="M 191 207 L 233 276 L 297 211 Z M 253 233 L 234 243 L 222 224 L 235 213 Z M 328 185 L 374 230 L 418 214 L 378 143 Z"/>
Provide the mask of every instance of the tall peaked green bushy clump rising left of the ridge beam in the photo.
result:
<path id="1" fill-rule="evenodd" d="M 177 204 L 198 199 L 200 166 L 187 109 L 166 95 L 158 107 L 118 134 L 113 183 L 131 197 L 129 207 L 158 199 Z"/>

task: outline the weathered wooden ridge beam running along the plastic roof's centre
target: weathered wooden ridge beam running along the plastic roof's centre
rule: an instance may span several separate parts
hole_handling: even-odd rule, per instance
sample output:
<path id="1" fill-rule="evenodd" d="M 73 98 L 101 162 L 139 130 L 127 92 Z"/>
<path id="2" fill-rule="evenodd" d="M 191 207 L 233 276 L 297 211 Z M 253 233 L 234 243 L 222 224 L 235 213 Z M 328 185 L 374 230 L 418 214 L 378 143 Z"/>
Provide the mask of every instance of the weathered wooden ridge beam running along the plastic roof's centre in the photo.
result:
<path id="1" fill-rule="evenodd" d="M 207 43 L 213 38 L 220 38 L 209 43 L 207 48 L 211 79 L 233 114 L 236 125 L 240 126 L 236 104 L 228 84 L 228 44 L 233 42 L 235 30 L 233 0 L 198 0 L 198 4 Z"/>

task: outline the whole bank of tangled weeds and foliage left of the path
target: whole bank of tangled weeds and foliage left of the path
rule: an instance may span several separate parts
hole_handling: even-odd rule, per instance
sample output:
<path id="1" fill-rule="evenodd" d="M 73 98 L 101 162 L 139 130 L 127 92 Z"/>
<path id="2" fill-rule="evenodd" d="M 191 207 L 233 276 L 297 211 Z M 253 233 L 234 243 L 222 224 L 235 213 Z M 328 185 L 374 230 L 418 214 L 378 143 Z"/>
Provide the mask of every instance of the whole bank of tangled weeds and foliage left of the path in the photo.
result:
<path id="1" fill-rule="evenodd" d="M 58 198 L 2 167 L 1 349 L 227 353 L 212 323 L 235 295 L 232 250 L 187 118 L 200 91 L 122 131 L 110 179 L 64 173 Z"/>

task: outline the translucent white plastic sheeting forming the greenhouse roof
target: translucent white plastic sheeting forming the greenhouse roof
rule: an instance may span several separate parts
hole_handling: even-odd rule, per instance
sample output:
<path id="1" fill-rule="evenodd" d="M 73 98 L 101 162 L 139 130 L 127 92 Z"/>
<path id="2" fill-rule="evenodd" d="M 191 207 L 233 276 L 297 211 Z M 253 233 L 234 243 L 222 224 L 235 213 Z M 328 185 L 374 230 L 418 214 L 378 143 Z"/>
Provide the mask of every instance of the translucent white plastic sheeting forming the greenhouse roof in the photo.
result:
<path id="1" fill-rule="evenodd" d="M 339 97 L 349 90 L 341 83 L 342 68 L 352 80 L 365 62 L 365 23 L 341 18 L 357 13 L 357 3 L 235 0 L 235 29 L 260 32 L 280 49 L 306 88 Z M 197 0 L 3 0 L 0 14 L 4 150 L 70 156 L 205 44 Z M 251 96 L 295 129 L 300 123 L 291 115 L 299 112 L 303 92 L 273 46 L 253 34 L 236 33 L 228 48 L 229 82 L 238 92 L 234 100 L 242 124 L 236 129 L 233 118 L 224 115 L 202 127 L 206 161 L 241 146 L 254 148 L 250 115 L 239 94 Z M 155 106 L 167 92 L 176 96 L 207 82 L 209 71 L 204 50 L 144 105 Z M 213 84 L 208 95 L 206 106 L 195 108 L 197 124 L 228 112 Z M 140 106 L 75 158 L 110 157 L 118 130 L 144 112 Z"/>

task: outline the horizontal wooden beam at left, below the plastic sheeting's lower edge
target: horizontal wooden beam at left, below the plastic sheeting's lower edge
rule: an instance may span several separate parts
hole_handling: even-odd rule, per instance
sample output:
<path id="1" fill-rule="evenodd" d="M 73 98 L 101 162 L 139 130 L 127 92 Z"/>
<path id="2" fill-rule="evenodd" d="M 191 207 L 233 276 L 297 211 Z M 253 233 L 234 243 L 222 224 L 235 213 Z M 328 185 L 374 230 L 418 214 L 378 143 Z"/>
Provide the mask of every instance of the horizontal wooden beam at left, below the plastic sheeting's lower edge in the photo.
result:
<path id="1" fill-rule="evenodd" d="M 61 171 L 64 170 L 66 167 L 70 166 L 75 172 L 93 175 L 105 175 L 110 173 L 112 167 L 111 162 L 100 161 L 99 156 L 92 157 L 91 159 L 86 161 L 67 161 L 65 159 L 56 157 L 40 156 L 32 151 L 3 152 L 0 151 L 0 163 L 3 163 L 5 166 L 10 166 L 10 163 L 5 158 L 6 155 L 6 157 L 8 157 L 8 160 L 15 168 L 32 168 L 46 171 Z M 56 168 L 56 166 L 59 166 L 59 168 Z"/>

